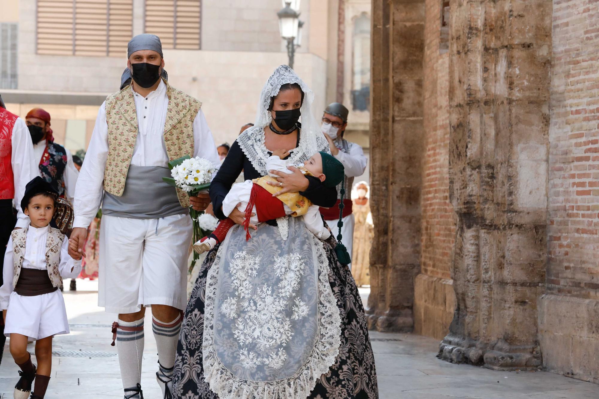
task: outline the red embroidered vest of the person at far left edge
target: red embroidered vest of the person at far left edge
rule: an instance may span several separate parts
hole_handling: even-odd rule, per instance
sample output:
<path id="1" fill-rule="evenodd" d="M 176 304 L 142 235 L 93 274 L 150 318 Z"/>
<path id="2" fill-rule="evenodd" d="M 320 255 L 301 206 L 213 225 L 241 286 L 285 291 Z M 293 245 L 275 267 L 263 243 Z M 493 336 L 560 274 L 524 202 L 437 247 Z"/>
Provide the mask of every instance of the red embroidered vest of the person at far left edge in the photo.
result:
<path id="1" fill-rule="evenodd" d="M 0 200 L 12 200 L 14 198 L 14 175 L 11 158 L 13 156 L 13 128 L 17 117 L 0 107 Z"/>

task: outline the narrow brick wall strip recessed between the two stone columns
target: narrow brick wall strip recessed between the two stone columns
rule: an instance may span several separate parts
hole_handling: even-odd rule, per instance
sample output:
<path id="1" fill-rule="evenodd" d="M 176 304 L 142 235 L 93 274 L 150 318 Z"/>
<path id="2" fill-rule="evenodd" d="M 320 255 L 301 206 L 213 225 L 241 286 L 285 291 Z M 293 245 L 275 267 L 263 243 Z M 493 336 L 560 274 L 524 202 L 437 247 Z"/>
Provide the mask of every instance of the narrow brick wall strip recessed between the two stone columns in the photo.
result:
<path id="1" fill-rule="evenodd" d="M 449 202 L 449 53 L 441 50 L 441 4 L 425 2 L 422 272 L 414 288 L 414 330 L 438 339 L 447 334 L 455 310 L 450 274 L 455 213 Z"/>

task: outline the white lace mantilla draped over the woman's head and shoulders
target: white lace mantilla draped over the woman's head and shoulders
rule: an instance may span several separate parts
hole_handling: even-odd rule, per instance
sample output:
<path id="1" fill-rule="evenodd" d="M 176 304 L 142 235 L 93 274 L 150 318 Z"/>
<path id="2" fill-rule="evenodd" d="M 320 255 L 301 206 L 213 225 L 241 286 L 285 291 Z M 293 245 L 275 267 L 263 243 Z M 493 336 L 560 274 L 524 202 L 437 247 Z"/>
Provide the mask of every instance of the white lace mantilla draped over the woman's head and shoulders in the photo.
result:
<path id="1" fill-rule="evenodd" d="M 312 114 L 311 105 L 314 101 L 314 93 L 302 81 L 293 69 L 287 65 L 281 65 L 268 78 L 262 89 L 258 101 L 258 112 L 256 113 L 255 125 L 244 131 L 238 138 L 237 143 L 243 150 L 247 159 L 252 162 L 253 167 L 261 176 L 267 174 L 266 161 L 268 150 L 264 145 L 264 128 L 272 122 L 271 111 L 268 110 L 271 98 L 279 94 L 283 84 L 297 83 L 304 92 L 304 102 L 301 105 L 301 132 L 299 134 L 299 145 L 291 151 L 289 159 L 294 165 L 301 166 L 304 161 L 310 159 L 314 153 L 326 151 L 330 153 L 328 141 L 320 131 L 320 123 L 316 122 Z M 317 110 L 318 112 L 322 110 Z"/>

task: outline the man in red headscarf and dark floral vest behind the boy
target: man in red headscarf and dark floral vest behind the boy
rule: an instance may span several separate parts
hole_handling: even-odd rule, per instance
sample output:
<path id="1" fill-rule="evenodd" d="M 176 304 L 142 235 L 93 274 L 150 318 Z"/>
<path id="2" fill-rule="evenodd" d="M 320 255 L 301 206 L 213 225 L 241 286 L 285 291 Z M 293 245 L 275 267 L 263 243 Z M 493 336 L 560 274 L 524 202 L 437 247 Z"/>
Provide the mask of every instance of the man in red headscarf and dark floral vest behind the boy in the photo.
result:
<path id="1" fill-rule="evenodd" d="M 75 168 L 71 152 L 54 142 L 50 114 L 42 108 L 34 108 L 25 116 L 25 122 L 34 143 L 40 176 L 58 191 L 60 197 L 72 204 L 79 171 Z"/>

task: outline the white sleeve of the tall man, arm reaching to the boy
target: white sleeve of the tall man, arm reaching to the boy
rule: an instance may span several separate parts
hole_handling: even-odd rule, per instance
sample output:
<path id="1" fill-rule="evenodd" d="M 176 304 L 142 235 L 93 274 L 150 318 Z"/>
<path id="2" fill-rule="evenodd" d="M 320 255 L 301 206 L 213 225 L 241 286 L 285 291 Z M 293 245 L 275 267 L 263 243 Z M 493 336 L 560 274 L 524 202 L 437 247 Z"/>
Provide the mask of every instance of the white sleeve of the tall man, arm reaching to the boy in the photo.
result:
<path id="1" fill-rule="evenodd" d="M 108 158 L 108 124 L 106 123 L 106 103 L 98 110 L 92 140 L 81 167 L 75 186 L 73 201 L 75 220 L 73 227 L 87 228 L 98 213 L 104 195 L 104 169 Z"/>

